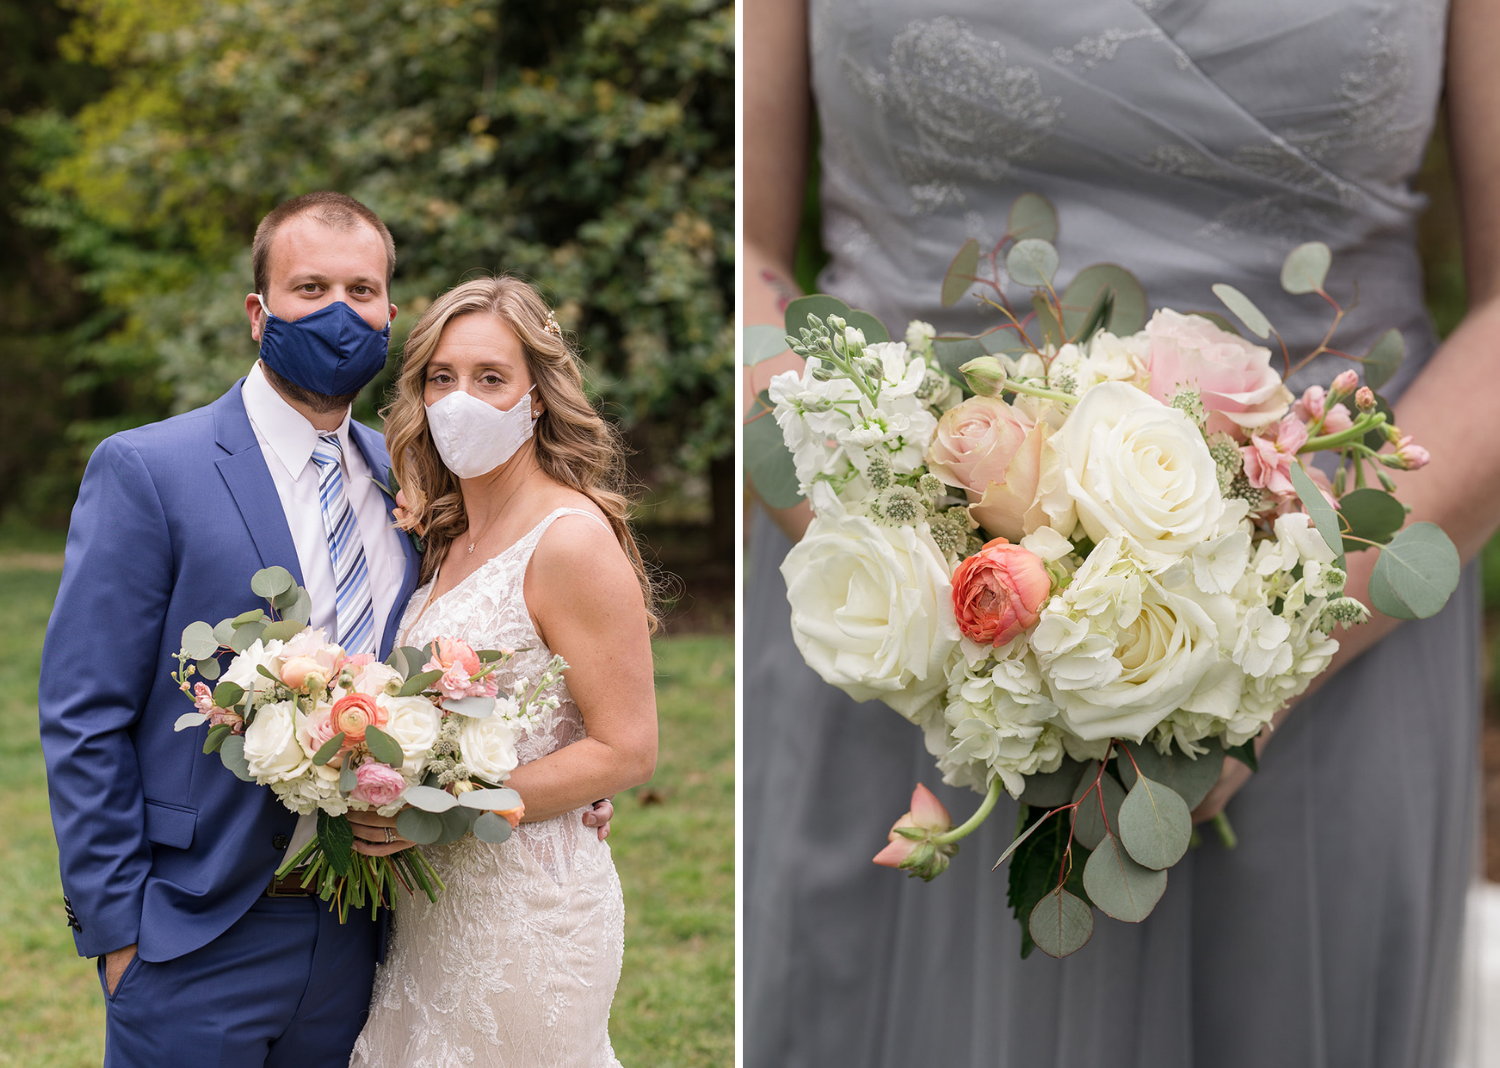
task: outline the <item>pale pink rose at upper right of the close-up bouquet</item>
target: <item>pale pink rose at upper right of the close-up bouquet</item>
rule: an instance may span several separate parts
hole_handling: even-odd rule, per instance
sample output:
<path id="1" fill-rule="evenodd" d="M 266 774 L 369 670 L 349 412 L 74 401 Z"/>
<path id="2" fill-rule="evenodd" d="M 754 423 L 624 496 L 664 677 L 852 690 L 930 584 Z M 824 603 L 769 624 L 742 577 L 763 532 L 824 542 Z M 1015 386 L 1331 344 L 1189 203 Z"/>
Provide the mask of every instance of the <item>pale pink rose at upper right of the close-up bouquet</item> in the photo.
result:
<path id="1" fill-rule="evenodd" d="M 1244 441 L 1287 414 L 1292 392 L 1270 366 L 1269 348 L 1167 308 L 1152 315 L 1146 338 L 1150 394 L 1172 404 L 1179 390 L 1198 390 L 1210 434 L 1224 430 Z"/>

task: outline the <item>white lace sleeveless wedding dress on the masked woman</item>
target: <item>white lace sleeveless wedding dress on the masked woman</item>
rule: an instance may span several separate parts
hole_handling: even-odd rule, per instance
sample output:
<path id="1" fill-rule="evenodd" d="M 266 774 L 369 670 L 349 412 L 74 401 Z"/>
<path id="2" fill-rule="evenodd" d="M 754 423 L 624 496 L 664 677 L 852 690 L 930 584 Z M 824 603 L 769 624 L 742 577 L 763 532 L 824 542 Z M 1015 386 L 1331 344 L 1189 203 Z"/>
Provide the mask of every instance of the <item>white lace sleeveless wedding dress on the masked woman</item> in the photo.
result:
<path id="1" fill-rule="evenodd" d="M 402 618 L 400 642 L 456 636 L 476 648 L 519 650 L 498 672 L 540 678 L 552 658 L 522 596 L 526 566 L 558 508 L 430 604 L 430 584 Z M 560 680 L 556 711 L 522 734 L 522 764 L 584 738 Z M 472 836 L 426 850 L 447 890 L 396 906 L 370 1016 L 351 1068 L 618 1068 L 609 1004 L 620 982 L 626 906 L 609 846 L 582 813 L 522 824 L 508 842 Z"/>

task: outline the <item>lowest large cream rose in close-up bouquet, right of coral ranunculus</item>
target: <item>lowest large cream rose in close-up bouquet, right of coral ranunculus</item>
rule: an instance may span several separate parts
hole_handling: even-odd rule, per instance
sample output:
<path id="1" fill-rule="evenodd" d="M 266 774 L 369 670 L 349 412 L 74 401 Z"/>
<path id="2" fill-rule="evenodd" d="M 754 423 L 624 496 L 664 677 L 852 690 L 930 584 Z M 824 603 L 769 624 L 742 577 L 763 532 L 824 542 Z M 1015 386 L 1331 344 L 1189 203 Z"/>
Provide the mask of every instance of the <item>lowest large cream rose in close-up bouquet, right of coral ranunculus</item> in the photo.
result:
<path id="1" fill-rule="evenodd" d="M 1095 546 L 1030 634 L 1062 724 L 1082 741 L 1140 741 L 1179 708 L 1228 717 L 1242 675 L 1220 651 L 1228 597 L 1168 590 L 1118 538 Z"/>

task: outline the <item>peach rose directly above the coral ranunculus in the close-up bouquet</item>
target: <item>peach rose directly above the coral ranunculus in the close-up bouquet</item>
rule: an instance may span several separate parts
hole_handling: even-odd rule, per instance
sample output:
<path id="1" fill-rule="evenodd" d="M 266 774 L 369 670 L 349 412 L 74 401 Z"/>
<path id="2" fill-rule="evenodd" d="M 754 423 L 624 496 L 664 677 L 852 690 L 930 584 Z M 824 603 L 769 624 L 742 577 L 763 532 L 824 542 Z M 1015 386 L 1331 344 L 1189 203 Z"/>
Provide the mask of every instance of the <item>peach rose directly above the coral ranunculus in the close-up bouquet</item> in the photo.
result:
<path id="1" fill-rule="evenodd" d="M 1046 420 L 999 398 L 969 398 L 938 420 L 927 470 L 969 496 L 969 514 L 990 534 L 1018 538 L 1036 500 Z"/>

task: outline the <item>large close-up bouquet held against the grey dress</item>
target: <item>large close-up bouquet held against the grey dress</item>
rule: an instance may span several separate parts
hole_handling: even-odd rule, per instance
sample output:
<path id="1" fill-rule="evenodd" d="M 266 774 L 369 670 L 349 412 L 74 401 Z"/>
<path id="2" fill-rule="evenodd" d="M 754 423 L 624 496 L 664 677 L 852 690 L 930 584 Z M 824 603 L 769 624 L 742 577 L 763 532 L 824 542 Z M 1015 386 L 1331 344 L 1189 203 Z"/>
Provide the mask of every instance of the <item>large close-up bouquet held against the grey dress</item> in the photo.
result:
<path id="1" fill-rule="evenodd" d="M 1323 288 L 1328 246 L 1294 249 L 1281 273 L 1335 310 L 1298 366 L 1335 352 L 1366 384 L 1348 369 L 1296 398 L 1270 348 L 1220 315 L 1146 321 L 1119 267 L 1059 292 L 1054 236 L 1028 195 L 994 250 L 960 250 L 944 302 L 980 284 L 1004 320 L 976 338 L 912 322 L 890 340 L 830 297 L 794 302 L 784 334 L 748 334 L 746 358 L 790 344 L 806 369 L 771 381 L 746 438 L 762 496 L 806 496 L 816 516 L 782 564 L 807 663 L 921 726 L 944 780 L 986 795 L 954 828 L 918 786 L 876 862 L 938 876 L 1008 790 L 1023 956 L 1060 957 L 1092 934 L 1090 906 L 1150 914 L 1224 756 L 1254 768 L 1254 740 L 1329 664 L 1335 627 L 1365 621 L 1346 552 L 1380 554 L 1371 600 L 1398 618 L 1443 606 L 1458 555 L 1436 525 L 1406 525 L 1388 474 L 1428 460 L 1374 393 L 1401 334 L 1364 357 L 1330 348 L 1346 310 Z M 1032 290 L 1023 310 L 1002 252 Z M 1275 334 L 1242 292 L 1214 291 Z"/>

